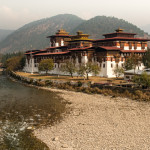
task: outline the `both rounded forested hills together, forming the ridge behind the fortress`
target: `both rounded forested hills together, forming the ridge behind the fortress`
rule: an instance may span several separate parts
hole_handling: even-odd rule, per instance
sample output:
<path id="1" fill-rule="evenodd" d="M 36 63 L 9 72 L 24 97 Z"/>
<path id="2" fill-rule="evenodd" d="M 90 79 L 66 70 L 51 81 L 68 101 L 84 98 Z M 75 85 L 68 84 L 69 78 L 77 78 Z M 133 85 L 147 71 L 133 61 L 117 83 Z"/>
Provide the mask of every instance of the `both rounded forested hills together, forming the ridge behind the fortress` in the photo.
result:
<path id="1" fill-rule="evenodd" d="M 63 14 L 51 18 L 45 18 L 26 24 L 16 30 L 5 40 L 0 42 L 0 53 L 26 51 L 28 49 L 43 49 L 49 46 L 49 39 L 46 37 L 63 28 L 70 34 L 78 30 L 91 35 L 91 38 L 102 38 L 102 34 L 114 32 L 118 27 L 126 32 L 137 33 L 140 37 L 148 36 L 137 26 L 122 19 L 114 17 L 97 16 L 90 20 L 83 20 L 75 15 Z"/>

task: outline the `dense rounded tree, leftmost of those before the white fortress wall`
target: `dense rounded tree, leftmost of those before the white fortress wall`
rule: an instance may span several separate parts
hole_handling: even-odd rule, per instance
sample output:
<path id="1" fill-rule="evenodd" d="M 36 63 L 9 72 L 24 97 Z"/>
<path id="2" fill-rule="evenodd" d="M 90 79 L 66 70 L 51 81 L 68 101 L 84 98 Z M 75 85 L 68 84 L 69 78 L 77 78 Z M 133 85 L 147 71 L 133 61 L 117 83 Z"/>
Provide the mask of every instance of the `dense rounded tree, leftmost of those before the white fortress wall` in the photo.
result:
<path id="1" fill-rule="evenodd" d="M 46 75 L 48 71 L 51 71 L 54 68 L 53 59 L 43 59 L 39 63 L 39 71 L 45 71 Z"/>

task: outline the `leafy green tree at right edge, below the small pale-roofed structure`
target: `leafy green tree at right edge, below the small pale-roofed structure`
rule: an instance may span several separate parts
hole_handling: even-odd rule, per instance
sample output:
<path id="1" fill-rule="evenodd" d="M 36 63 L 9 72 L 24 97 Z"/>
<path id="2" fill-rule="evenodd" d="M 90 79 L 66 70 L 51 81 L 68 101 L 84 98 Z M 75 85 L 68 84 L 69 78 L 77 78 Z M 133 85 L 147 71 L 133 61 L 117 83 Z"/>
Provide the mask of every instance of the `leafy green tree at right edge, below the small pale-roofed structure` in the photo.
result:
<path id="1" fill-rule="evenodd" d="M 134 76 L 133 82 L 137 83 L 138 85 L 142 85 L 144 87 L 149 88 L 150 87 L 150 75 L 148 75 L 146 72 L 142 73 L 139 76 Z"/>

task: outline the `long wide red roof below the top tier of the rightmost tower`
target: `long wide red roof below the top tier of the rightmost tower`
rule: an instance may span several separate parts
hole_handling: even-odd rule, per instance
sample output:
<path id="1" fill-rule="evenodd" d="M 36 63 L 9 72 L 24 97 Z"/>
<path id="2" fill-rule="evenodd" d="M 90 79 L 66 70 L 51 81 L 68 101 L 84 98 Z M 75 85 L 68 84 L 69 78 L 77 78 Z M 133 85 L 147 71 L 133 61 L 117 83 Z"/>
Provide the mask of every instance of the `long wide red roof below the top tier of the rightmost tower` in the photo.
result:
<path id="1" fill-rule="evenodd" d="M 98 40 L 94 40 L 93 42 L 109 41 L 109 40 L 111 41 L 112 40 L 150 41 L 150 39 L 142 39 L 142 38 L 113 37 L 113 38 L 98 39 Z"/>

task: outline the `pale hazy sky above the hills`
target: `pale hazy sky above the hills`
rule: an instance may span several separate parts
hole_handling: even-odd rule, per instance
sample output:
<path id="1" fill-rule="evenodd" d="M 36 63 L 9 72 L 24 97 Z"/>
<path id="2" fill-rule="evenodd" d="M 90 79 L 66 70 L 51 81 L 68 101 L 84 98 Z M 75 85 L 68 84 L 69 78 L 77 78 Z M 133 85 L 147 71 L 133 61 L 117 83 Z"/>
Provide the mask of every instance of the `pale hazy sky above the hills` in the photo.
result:
<path id="1" fill-rule="evenodd" d="M 0 0 L 0 29 L 65 13 L 83 19 L 114 16 L 143 26 L 150 24 L 150 0 Z"/>

